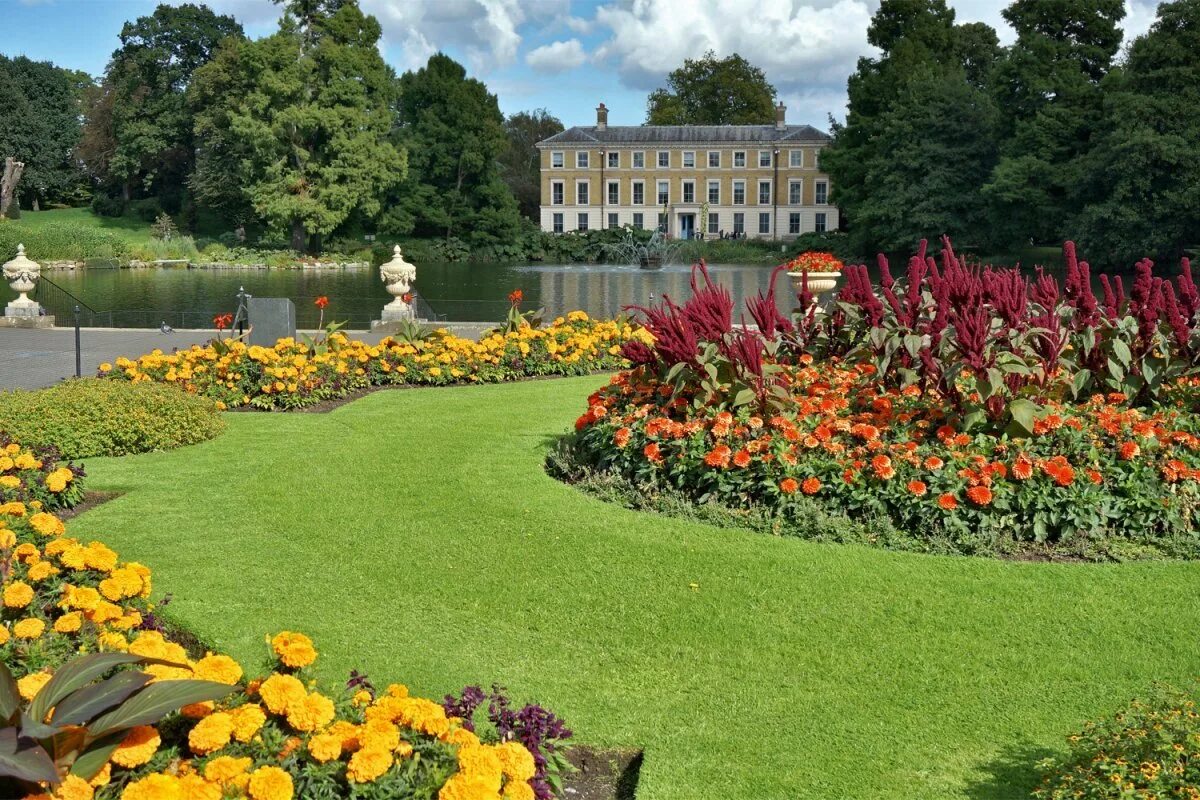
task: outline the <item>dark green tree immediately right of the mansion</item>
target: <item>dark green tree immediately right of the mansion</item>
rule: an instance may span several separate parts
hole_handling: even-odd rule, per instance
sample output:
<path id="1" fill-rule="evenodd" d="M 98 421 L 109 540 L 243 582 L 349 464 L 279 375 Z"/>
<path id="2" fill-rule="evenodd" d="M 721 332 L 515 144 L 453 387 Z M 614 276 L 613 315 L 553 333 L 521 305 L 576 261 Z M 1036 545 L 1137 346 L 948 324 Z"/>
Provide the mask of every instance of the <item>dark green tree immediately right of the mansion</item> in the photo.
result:
<path id="1" fill-rule="evenodd" d="M 907 251 L 973 231 L 980 204 L 958 194 L 976 194 L 995 163 L 995 104 L 979 88 L 995 32 L 955 25 L 944 0 L 883 0 L 868 41 L 880 56 L 859 59 L 846 122 L 821 154 L 852 246 Z"/>

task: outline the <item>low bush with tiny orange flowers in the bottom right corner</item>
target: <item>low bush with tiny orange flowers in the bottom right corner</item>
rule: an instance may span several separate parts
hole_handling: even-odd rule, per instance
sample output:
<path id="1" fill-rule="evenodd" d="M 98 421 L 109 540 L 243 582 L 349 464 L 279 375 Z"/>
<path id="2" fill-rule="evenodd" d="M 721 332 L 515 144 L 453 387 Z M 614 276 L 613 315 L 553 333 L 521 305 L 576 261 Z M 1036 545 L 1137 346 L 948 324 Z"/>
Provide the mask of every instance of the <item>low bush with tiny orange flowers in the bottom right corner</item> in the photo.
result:
<path id="1" fill-rule="evenodd" d="M 1040 800 L 1200 796 L 1196 687 L 1158 686 L 1108 720 L 1068 736 L 1067 754 L 1040 764 Z"/>

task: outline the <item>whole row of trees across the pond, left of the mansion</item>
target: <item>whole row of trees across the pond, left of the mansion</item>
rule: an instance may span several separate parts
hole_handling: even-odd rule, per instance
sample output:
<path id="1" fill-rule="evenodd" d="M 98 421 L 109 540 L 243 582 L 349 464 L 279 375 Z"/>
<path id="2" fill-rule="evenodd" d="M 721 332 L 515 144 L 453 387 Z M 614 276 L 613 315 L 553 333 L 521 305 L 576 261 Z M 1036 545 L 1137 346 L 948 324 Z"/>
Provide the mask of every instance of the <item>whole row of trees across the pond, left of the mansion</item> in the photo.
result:
<path id="1" fill-rule="evenodd" d="M 287 0 L 250 40 L 203 5 L 126 23 L 97 80 L 0 56 L 0 157 L 26 164 L 20 204 L 167 212 L 186 228 L 259 225 L 298 251 L 337 235 L 510 241 L 536 216 L 544 109 L 508 119 L 436 54 L 397 76 L 358 0 Z M 526 223 L 528 224 L 528 223 Z"/>

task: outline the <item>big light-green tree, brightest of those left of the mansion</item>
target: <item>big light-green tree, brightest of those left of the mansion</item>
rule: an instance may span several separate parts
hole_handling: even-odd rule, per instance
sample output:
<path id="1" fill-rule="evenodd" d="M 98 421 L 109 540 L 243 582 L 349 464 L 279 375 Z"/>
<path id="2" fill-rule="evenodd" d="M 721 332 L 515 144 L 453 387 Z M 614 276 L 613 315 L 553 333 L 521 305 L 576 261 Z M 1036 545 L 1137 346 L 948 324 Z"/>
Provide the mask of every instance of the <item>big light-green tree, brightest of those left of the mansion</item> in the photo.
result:
<path id="1" fill-rule="evenodd" d="M 293 0 L 277 34 L 226 41 L 192 89 L 197 197 L 252 209 L 296 251 L 376 217 L 406 169 L 379 36 L 356 0 Z"/>

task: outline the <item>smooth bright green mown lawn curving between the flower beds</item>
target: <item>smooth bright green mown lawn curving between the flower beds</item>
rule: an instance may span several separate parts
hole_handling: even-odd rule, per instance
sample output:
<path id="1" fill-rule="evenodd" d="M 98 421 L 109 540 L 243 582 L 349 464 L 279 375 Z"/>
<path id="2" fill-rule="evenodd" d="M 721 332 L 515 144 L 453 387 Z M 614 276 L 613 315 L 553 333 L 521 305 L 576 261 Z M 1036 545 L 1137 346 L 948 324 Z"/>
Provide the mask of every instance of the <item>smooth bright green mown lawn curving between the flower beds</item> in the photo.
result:
<path id="1" fill-rule="evenodd" d="M 1196 672 L 1200 564 L 812 545 L 562 486 L 544 453 L 600 380 L 230 414 L 214 441 L 89 462 L 127 494 L 70 529 L 250 664 L 301 628 L 329 681 L 499 680 L 584 742 L 643 746 L 640 800 L 1022 796 L 1082 720 Z"/>

